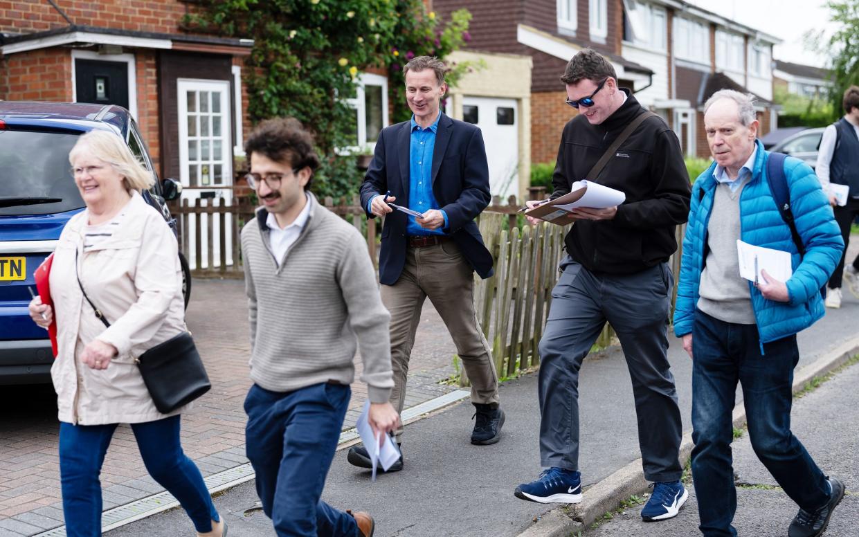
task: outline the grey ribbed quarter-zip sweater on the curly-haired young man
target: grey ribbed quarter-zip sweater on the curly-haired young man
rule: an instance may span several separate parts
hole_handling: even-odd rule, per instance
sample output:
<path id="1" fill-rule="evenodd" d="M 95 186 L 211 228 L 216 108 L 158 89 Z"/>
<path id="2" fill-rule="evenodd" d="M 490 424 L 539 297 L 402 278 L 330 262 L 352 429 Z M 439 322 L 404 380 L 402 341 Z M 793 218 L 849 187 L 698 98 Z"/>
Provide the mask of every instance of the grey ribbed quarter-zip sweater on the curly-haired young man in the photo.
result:
<path id="1" fill-rule="evenodd" d="M 241 229 L 251 324 L 251 379 L 288 392 L 326 381 L 350 384 L 356 348 L 369 400 L 385 403 L 393 387 L 390 314 L 361 234 L 312 195 L 310 217 L 277 266 L 265 219 Z"/>

